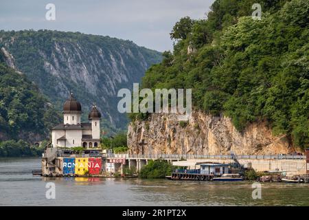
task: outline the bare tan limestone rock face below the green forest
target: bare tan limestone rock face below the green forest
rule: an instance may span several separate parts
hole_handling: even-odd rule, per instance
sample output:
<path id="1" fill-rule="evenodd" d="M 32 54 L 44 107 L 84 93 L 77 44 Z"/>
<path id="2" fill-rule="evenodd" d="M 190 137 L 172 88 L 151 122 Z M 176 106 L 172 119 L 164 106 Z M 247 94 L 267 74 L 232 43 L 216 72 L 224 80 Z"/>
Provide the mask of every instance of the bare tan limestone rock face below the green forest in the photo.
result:
<path id="1" fill-rule="evenodd" d="M 286 136 L 275 136 L 266 122 L 255 122 L 240 133 L 231 119 L 194 111 L 180 122 L 175 114 L 152 113 L 147 121 L 128 126 L 130 153 L 259 155 L 295 151 Z"/>

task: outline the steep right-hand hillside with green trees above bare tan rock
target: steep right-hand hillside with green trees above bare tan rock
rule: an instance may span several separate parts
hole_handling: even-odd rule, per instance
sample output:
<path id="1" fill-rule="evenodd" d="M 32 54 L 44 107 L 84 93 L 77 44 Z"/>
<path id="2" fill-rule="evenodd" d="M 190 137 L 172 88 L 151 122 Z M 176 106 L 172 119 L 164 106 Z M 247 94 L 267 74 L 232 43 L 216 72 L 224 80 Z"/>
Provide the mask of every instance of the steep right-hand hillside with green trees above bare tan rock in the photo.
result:
<path id="1" fill-rule="evenodd" d="M 145 153 L 309 147 L 309 2 L 260 1 L 261 20 L 251 17 L 253 3 L 217 0 L 207 20 L 176 23 L 174 52 L 163 53 L 142 86 L 192 88 L 195 117 L 183 128 L 172 115 L 131 115 L 134 153 L 141 140 Z"/>

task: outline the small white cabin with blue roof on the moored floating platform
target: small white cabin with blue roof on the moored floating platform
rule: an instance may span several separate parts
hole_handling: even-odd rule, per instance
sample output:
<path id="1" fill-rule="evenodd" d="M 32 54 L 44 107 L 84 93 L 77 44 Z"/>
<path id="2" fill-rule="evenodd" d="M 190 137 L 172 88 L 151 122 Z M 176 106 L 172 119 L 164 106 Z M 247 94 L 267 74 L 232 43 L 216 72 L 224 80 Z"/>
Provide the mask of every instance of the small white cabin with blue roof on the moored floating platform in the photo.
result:
<path id="1" fill-rule="evenodd" d="M 229 173 L 229 164 L 219 164 L 219 163 L 196 163 L 201 167 L 201 174 L 203 175 L 216 175 L 220 176 L 225 173 Z"/>

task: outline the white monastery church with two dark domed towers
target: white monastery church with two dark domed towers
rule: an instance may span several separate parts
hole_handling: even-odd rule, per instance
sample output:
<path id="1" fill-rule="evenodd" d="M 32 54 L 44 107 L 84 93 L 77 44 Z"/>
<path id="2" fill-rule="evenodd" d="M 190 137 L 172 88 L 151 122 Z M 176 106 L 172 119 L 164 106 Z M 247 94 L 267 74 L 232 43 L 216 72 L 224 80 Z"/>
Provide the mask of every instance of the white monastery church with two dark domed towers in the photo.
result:
<path id="1" fill-rule="evenodd" d="M 53 147 L 98 148 L 100 146 L 101 113 L 93 105 L 88 115 L 89 123 L 81 123 L 82 106 L 73 94 L 63 105 L 63 124 L 52 129 Z"/>

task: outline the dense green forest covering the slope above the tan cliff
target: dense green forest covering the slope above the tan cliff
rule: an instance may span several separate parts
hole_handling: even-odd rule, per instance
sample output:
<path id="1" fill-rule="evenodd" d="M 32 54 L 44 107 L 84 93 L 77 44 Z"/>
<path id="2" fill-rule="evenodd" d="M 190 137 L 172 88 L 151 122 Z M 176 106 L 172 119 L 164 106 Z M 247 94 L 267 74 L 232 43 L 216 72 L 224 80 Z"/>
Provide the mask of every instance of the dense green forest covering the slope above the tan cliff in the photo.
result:
<path id="1" fill-rule="evenodd" d="M 261 20 L 251 17 L 253 3 L 217 0 L 207 19 L 177 22 L 174 51 L 148 69 L 142 87 L 192 88 L 196 109 L 229 116 L 238 131 L 266 121 L 309 147 L 309 1 L 259 1 Z"/>

